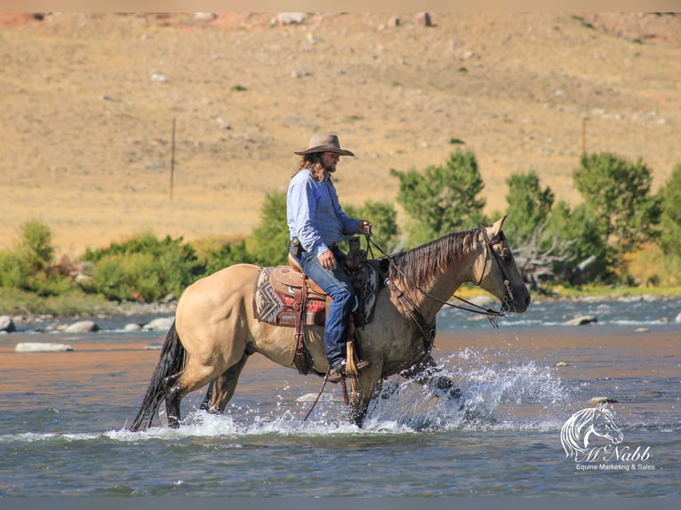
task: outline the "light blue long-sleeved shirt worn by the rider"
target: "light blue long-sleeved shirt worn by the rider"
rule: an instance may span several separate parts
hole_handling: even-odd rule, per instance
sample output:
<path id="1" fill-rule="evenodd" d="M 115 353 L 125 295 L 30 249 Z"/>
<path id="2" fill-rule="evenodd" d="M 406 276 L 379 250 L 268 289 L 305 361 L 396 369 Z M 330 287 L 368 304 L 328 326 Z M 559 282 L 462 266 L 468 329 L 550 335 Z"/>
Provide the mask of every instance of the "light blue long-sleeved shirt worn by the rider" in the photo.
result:
<path id="1" fill-rule="evenodd" d="M 286 221 L 290 237 L 298 237 L 303 249 L 317 256 L 329 251 L 329 246 L 340 242 L 343 235 L 356 234 L 359 226 L 359 219 L 349 218 L 341 209 L 329 176 L 319 182 L 307 168 L 289 183 Z"/>

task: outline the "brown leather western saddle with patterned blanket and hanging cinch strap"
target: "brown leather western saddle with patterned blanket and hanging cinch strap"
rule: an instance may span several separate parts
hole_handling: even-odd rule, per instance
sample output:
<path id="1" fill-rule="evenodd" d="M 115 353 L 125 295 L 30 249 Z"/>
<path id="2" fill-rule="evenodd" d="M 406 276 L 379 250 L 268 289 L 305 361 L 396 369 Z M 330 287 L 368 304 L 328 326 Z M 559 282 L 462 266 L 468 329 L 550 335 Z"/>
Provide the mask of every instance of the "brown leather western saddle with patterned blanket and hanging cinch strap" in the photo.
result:
<path id="1" fill-rule="evenodd" d="M 295 328 L 296 354 L 293 362 L 307 375 L 312 363 L 303 339 L 304 326 L 323 326 L 331 298 L 302 272 L 298 261 L 289 255 L 291 266 L 261 267 L 255 279 L 253 311 L 260 322 Z M 378 270 L 365 261 L 350 275 L 355 284 L 357 307 L 351 322 L 370 323 L 378 293 Z"/>

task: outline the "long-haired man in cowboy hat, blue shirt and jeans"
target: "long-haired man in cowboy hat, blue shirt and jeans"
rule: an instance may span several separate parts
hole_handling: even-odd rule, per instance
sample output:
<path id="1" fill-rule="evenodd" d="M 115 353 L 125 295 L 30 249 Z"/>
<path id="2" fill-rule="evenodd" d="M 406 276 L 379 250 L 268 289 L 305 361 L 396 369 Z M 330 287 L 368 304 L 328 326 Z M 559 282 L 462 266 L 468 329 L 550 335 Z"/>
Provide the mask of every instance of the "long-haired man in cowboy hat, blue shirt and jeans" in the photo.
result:
<path id="1" fill-rule="evenodd" d="M 300 267 L 329 296 L 324 347 L 329 362 L 328 379 L 338 381 L 345 374 L 349 316 L 355 304 L 354 288 L 341 264 L 345 254 L 338 243 L 343 235 L 371 234 L 372 224 L 349 218 L 343 212 L 331 175 L 341 155 L 354 154 L 341 149 L 338 136 L 315 133 L 293 173 L 286 196 L 286 219 L 291 238 L 290 251 Z M 357 370 L 369 363 L 357 363 Z"/>

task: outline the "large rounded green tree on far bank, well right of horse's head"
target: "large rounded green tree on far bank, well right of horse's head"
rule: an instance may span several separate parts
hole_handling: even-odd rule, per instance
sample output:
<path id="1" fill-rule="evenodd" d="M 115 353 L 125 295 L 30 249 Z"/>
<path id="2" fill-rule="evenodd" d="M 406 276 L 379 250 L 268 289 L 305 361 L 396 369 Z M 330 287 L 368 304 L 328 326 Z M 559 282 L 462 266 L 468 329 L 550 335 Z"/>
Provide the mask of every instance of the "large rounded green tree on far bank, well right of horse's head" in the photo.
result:
<path id="1" fill-rule="evenodd" d="M 660 217 L 659 200 L 650 194 L 651 171 L 610 153 L 582 155 L 573 182 L 601 226 L 611 236 L 618 256 L 651 239 Z"/>

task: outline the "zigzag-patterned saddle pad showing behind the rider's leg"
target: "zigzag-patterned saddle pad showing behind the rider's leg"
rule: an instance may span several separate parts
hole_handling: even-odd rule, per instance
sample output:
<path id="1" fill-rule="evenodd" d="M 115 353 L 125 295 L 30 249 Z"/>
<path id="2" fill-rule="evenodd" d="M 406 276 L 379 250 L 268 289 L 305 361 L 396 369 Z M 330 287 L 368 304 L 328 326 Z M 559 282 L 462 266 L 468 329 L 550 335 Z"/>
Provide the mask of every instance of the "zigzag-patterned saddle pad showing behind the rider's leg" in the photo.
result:
<path id="1" fill-rule="evenodd" d="M 295 309 L 292 295 L 277 291 L 271 282 L 274 267 L 262 267 L 255 279 L 253 310 L 255 318 L 262 323 L 276 326 L 295 326 Z M 301 277 L 299 277 L 301 280 Z M 304 323 L 307 326 L 324 325 L 326 303 L 324 300 L 308 299 Z"/>

